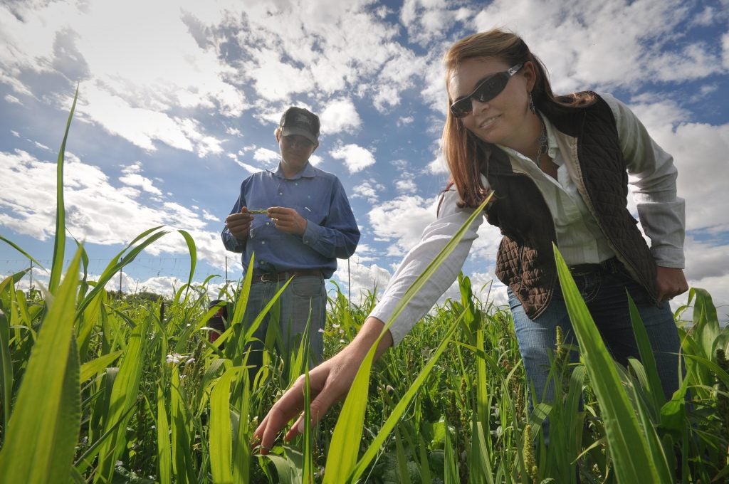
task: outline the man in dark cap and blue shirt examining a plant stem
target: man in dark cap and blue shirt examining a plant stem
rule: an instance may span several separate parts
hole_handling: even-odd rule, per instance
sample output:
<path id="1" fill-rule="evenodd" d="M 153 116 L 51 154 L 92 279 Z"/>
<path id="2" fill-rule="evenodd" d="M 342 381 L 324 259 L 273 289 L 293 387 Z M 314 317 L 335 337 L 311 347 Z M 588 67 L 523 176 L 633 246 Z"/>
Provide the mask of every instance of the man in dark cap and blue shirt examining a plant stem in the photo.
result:
<path id="1" fill-rule="evenodd" d="M 310 321 L 311 362 L 321 361 L 320 329 L 327 319 L 324 279 L 336 270 L 337 258 L 350 257 L 359 242 L 359 229 L 339 179 L 308 161 L 319 147 L 319 117 L 290 107 L 274 134 L 281 152 L 278 170 L 260 171 L 243 180 L 222 231 L 225 248 L 242 254 L 243 271 L 253 271 L 244 324 L 252 323 L 281 285 L 293 278 L 281 294 L 278 315 L 266 316 L 254 334 L 257 341 L 249 356 L 254 371 L 262 364 L 269 326 L 277 335 L 278 351 L 287 359 L 299 347 Z"/>

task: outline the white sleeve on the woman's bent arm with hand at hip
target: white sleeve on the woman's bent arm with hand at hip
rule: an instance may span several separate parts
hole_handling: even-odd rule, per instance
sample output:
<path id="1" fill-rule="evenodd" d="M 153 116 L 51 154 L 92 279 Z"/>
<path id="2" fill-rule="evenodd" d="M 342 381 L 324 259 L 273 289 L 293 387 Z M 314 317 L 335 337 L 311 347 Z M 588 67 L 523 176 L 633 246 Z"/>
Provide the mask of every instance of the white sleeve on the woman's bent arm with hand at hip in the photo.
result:
<path id="1" fill-rule="evenodd" d="M 650 251 L 666 268 L 684 268 L 685 201 L 677 196 L 674 159 L 648 134 L 636 115 L 609 94 L 601 94 L 615 116 L 620 148 Z"/>

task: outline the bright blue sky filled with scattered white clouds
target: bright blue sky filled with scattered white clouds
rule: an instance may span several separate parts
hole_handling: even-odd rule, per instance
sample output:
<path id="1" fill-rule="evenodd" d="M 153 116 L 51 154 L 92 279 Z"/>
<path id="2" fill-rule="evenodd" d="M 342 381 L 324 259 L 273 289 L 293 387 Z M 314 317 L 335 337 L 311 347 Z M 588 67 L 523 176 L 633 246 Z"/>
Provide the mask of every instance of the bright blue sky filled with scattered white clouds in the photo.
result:
<path id="1" fill-rule="evenodd" d="M 276 167 L 281 112 L 305 106 L 321 117 L 313 163 L 340 177 L 362 230 L 335 281 L 351 280 L 353 297 L 382 288 L 434 219 L 447 179 L 443 53 L 504 27 L 542 58 L 555 92 L 615 94 L 674 155 L 689 284 L 727 305 L 728 26 L 727 0 L 4 2 L 0 235 L 50 266 L 55 159 L 79 85 L 66 210 L 90 271 L 168 225 L 195 238 L 196 281 L 219 274 L 211 286 L 222 284 L 226 262 L 238 278 L 222 220 L 243 178 Z M 464 266 L 475 286 L 494 278 L 498 242 L 484 225 Z M 22 259 L 0 244 L 0 276 L 27 267 Z M 182 237 L 166 235 L 122 286 L 168 293 L 188 266 Z M 504 294 L 496 281 L 491 297 Z"/>

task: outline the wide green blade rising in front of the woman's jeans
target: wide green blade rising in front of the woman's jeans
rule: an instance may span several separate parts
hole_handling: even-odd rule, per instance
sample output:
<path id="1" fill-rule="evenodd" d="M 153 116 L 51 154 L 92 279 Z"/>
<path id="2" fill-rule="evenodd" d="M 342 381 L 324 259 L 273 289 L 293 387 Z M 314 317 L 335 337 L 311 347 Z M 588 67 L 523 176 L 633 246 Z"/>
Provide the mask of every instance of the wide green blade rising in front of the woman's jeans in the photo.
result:
<path id="1" fill-rule="evenodd" d="M 555 262 L 564 301 L 574 333 L 588 369 L 593 391 L 600 403 L 615 475 L 621 483 L 671 482 L 663 456 L 651 452 L 648 437 L 641 427 L 628 394 L 600 333 L 590 316 L 572 275 L 554 248 Z"/>

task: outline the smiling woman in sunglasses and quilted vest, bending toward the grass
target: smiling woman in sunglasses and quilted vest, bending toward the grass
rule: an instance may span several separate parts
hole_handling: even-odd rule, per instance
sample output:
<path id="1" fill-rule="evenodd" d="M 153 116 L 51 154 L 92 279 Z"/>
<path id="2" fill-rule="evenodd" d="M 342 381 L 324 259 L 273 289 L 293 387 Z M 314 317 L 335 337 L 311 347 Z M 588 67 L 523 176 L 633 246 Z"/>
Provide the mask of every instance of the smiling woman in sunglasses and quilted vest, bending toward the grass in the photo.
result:
<path id="1" fill-rule="evenodd" d="M 687 291 L 683 274 L 684 202 L 670 155 L 635 115 L 609 95 L 555 96 L 544 66 L 518 36 L 488 31 L 445 55 L 448 114 L 443 150 L 451 187 L 438 219 L 400 264 L 359 334 L 310 372 L 314 421 L 346 396 L 356 370 L 412 281 L 493 190 L 486 219 L 504 237 L 496 276 L 508 287 L 526 376 L 549 401 L 548 354 L 555 327 L 574 343 L 556 276 L 556 243 L 612 355 L 639 353 L 626 290 L 639 307 L 667 397 L 678 386 L 679 338 L 668 300 Z M 649 248 L 627 210 L 628 173 Z M 455 188 L 455 190 L 453 190 Z M 455 280 L 483 217 L 383 336 L 377 356 L 399 343 Z M 254 433 L 266 453 L 303 409 L 303 380 L 271 408 Z M 286 440 L 303 432 L 303 415 Z"/>

